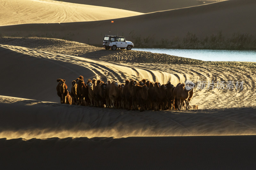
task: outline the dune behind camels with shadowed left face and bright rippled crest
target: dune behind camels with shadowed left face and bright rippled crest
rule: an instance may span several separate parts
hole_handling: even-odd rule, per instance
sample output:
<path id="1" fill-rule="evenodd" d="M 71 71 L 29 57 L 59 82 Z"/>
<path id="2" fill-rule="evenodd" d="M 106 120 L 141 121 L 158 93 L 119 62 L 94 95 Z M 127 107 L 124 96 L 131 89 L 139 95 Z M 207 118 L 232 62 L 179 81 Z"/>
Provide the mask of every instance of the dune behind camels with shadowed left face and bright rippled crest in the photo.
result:
<path id="1" fill-rule="evenodd" d="M 55 95 L 58 84 L 56 80 L 66 79 L 67 85 L 71 86 L 71 82 L 80 75 L 85 79 L 101 78 L 107 81 L 108 78 L 121 83 L 126 78 L 147 78 L 151 81 L 178 83 L 178 78 L 173 74 L 156 69 L 123 66 L 118 63 L 18 46 L 0 45 L 0 51 L 3 55 L 0 77 L 8 80 L 15 75 L 15 81 L 22 82 L 18 88 L 15 88 L 15 83 L 11 86 L 2 84 L 0 87 L 2 95 L 59 102 L 59 97 Z"/>

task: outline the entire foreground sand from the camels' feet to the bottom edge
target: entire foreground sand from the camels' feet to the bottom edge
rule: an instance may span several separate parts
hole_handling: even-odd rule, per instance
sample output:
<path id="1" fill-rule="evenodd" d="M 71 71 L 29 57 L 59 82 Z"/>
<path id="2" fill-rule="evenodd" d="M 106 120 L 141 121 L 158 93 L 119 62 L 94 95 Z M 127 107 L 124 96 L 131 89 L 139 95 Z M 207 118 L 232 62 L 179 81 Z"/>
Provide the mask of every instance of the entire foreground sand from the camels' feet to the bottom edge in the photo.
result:
<path id="1" fill-rule="evenodd" d="M 140 113 L 7 96 L 0 107 L 4 169 L 256 167 L 255 107 Z"/>

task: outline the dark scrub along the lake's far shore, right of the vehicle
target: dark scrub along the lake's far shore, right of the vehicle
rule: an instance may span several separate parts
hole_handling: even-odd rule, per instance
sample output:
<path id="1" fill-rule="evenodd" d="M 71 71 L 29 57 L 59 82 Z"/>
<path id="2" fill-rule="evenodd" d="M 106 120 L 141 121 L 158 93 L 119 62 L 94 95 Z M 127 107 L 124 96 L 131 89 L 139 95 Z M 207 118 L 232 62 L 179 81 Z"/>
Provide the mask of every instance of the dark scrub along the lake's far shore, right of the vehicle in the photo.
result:
<path id="1" fill-rule="evenodd" d="M 136 48 L 256 49 L 256 36 L 246 33 L 233 33 L 231 37 L 225 37 L 220 31 L 217 34 L 199 38 L 196 34 L 188 32 L 183 38 L 161 39 L 155 43 L 154 36 L 141 38 L 131 32 L 129 37 Z"/>

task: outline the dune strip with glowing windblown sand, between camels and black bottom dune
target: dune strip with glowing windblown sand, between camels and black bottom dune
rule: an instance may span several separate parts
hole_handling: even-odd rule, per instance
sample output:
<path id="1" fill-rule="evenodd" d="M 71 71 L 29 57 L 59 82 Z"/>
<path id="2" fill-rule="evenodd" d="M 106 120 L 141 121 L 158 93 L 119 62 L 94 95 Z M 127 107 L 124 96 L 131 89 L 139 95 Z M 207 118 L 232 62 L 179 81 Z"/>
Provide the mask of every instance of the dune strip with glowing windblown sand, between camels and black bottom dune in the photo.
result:
<path id="1" fill-rule="evenodd" d="M 0 138 L 256 135 L 255 107 L 127 111 L 0 96 Z"/>

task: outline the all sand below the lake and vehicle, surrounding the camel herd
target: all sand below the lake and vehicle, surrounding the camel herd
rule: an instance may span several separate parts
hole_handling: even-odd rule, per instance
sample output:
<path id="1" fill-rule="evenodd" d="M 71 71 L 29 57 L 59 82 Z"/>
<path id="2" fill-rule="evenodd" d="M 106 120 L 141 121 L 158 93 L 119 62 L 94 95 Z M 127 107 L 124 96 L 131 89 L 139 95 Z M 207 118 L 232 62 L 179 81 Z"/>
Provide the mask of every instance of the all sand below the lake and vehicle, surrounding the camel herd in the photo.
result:
<path id="1" fill-rule="evenodd" d="M 256 134 L 252 88 L 255 63 L 106 51 L 47 38 L 4 37 L 0 44 L 0 77 L 6 80 L 0 84 L 0 142 L 2 153 L 7 155 L 1 159 L 6 168 L 16 168 L 9 162 L 19 157 L 26 157 L 18 160 L 20 167 L 39 168 L 56 164 L 69 168 L 108 166 L 107 169 L 256 166 L 252 163 Z M 190 103 L 199 105 L 199 110 L 140 113 L 60 104 L 56 79 L 65 78 L 70 89 L 72 80 L 79 75 L 120 83 L 126 78 L 147 78 L 174 85 L 186 79 L 232 79 L 243 80 L 244 88 L 196 89 Z M 58 158 L 53 161 L 51 157 Z M 35 159 L 39 160 L 37 164 L 30 163 Z M 145 161 L 149 162 L 145 165 Z M 183 161 L 187 164 L 183 165 Z"/>

